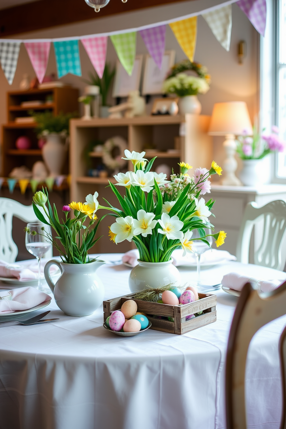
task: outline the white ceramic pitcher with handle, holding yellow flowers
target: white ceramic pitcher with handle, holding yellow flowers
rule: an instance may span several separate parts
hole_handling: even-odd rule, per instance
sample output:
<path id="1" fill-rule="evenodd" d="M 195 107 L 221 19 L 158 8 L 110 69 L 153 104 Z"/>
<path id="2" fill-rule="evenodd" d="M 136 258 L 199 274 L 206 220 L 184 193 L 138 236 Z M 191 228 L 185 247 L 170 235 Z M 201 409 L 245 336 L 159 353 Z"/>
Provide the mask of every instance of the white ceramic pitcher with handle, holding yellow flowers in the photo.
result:
<path id="1" fill-rule="evenodd" d="M 100 307 L 104 286 L 96 270 L 104 263 L 97 260 L 86 264 L 66 264 L 55 259 L 46 263 L 46 282 L 54 293 L 58 307 L 68 316 L 88 316 Z M 61 272 L 56 284 L 51 279 L 51 265 L 57 265 Z"/>

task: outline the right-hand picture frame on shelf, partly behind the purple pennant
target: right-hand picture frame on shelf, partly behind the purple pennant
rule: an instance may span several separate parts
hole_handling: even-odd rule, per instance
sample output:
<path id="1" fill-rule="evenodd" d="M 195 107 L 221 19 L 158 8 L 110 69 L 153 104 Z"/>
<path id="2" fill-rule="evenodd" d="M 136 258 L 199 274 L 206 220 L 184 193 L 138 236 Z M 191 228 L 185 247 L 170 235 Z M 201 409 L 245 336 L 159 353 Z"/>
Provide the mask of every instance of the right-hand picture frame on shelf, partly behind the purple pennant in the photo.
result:
<path id="1" fill-rule="evenodd" d="M 163 94 L 162 86 L 169 69 L 175 64 L 175 51 L 166 51 L 162 68 L 158 68 L 151 55 L 145 57 L 142 95 Z"/>

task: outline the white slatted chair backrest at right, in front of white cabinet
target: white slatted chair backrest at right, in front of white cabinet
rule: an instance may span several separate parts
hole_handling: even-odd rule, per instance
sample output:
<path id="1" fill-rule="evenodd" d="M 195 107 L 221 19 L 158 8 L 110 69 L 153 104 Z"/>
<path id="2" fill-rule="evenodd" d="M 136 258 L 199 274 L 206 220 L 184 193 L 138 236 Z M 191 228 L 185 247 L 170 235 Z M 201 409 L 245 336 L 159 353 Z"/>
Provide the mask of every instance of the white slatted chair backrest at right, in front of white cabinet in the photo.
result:
<path id="1" fill-rule="evenodd" d="M 282 260 L 282 239 L 286 230 L 286 203 L 282 200 L 268 202 L 258 208 L 256 202 L 249 202 L 238 236 L 236 257 L 239 262 L 249 262 L 250 237 L 256 221 L 263 219 L 262 241 L 254 251 L 256 265 L 284 269 L 286 256 Z"/>

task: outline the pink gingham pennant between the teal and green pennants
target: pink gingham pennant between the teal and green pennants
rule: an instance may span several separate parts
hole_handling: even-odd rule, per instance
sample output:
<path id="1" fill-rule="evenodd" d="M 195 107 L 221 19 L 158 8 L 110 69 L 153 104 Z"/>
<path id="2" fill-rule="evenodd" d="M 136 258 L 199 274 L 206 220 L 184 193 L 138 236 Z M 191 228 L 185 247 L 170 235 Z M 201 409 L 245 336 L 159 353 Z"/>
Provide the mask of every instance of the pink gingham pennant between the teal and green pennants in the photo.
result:
<path id="1" fill-rule="evenodd" d="M 87 55 L 95 68 L 99 79 L 101 79 L 106 60 L 107 36 L 81 39 L 81 43 L 84 45 L 84 49 L 87 51 Z"/>

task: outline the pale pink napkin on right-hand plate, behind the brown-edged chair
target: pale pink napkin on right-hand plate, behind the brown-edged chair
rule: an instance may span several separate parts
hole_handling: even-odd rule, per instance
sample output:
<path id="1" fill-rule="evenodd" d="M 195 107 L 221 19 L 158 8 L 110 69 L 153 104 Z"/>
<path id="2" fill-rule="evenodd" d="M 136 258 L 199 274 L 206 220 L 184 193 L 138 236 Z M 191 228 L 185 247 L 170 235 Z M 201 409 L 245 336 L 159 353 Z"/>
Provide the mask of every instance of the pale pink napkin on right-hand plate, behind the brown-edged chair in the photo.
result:
<path id="1" fill-rule="evenodd" d="M 276 289 L 285 280 L 259 280 L 254 277 L 250 278 L 246 275 L 240 275 L 236 272 L 230 272 L 223 276 L 221 284 L 229 289 L 241 291 L 244 285 L 249 281 L 251 283 L 256 283 L 261 292 L 271 292 L 271 290 Z"/>

